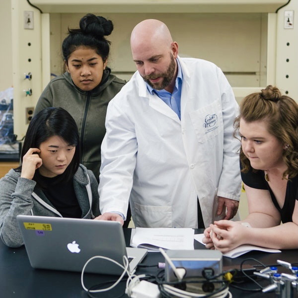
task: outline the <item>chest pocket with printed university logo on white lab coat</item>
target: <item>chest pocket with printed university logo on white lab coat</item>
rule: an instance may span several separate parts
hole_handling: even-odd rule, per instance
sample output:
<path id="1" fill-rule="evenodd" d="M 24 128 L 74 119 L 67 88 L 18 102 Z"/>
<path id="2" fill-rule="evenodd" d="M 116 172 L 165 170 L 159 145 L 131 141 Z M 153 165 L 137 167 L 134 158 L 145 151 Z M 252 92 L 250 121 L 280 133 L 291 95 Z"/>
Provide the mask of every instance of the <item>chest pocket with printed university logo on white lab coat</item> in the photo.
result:
<path id="1" fill-rule="evenodd" d="M 224 129 L 221 100 L 189 113 L 197 139 L 204 143 Z"/>

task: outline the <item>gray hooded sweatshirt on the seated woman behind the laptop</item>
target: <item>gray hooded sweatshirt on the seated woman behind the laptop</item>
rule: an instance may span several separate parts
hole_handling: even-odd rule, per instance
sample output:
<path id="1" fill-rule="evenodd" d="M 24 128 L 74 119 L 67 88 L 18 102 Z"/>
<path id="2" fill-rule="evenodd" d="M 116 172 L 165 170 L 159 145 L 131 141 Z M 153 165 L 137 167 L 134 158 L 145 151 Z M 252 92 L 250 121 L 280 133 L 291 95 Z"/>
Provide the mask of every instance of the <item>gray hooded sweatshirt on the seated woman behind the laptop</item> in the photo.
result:
<path id="1" fill-rule="evenodd" d="M 62 217 L 47 199 L 36 182 L 21 178 L 13 169 L 0 179 L 0 237 L 10 247 L 23 245 L 22 235 L 16 222 L 17 215 Z M 98 183 L 92 173 L 80 164 L 73 178 L 74 193 L 81 208 L 83 219 L 100 215 Z"/>

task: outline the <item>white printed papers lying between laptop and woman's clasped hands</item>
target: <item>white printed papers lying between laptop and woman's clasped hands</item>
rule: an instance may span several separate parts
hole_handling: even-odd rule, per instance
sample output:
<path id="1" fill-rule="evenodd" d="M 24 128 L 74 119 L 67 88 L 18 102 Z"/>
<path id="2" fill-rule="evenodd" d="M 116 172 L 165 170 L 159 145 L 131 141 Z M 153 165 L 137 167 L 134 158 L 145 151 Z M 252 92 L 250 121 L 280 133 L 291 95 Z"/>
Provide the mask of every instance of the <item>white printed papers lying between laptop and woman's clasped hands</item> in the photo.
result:
<path id="1" fill-rule="evenodd" d="M 149 251 L 158 251 L 159 247 L 174 250 L 193 250 L 194 229 L 136 227 L 132 230 L 131 246 L 147 248 Z"/>

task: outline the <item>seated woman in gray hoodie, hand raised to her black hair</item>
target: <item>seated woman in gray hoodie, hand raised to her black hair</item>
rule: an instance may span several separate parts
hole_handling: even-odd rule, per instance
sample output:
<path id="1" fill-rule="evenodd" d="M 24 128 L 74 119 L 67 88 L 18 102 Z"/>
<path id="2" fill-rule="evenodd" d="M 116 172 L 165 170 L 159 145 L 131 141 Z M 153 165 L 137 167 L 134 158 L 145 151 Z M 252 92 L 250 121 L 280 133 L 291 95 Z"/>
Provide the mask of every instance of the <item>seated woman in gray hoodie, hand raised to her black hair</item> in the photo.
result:
<path id="1" fill-rule="evenodd" d="M 7 246 L 23 244 L 17 215 L 100 215 L 97 180 L 79 160 L 78 130 L 66 110 L 46 108 L 32 118 L 21 166 L 0 179 L 0 237 Z"/>

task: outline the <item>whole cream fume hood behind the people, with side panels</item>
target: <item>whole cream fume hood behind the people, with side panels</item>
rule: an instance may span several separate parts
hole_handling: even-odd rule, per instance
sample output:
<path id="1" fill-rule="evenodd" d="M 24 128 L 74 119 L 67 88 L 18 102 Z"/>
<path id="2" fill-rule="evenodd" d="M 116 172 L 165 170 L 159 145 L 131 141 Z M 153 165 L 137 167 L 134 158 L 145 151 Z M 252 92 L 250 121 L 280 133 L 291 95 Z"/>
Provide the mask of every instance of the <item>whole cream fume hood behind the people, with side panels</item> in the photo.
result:
<path id="1" fill-rule="evenodd" d="M 178 42 L 180 56 L 203 58 L 222 68 L 238 101 L 269 83 L 298 100 L 297 24 L 294 29 L 283 29 L 284 10 L 293 9 L 294 16 L 298 15 L 297 0 L 278 13 L 275 10 L 286 0 L 187 0 L 182 8 L 181 1 L 172 0 L 32 0 L 46 12 L 42 17 L 26 1 L 11 1 L 14 126 L 19 136 L 27 129 L 25 108 L 35 105 L 51 74 L 63 71 L 61 43 L 68 26 L 77 27 L 86 12 L 114 22 L 115 29 L 108 38 L 112 42 L 109 66 L 120 77 L 128 79 L 135 72 L 129 43 L 131 30 L 143 19 L 158 18 L 168 25 Z M 162 6 L 165 2 L 172 5 Z M 126 8 L 120 13 L 119 7 Z M 23 29 L 24 10 L 34 12 L 34 30 Z M 33 58 L 29 63 L 30 57 Z M 290 62 L 285 62 L 286 59 Z M 33 74 L 30 82 L 23 79 L 23 74 L 29 71 Z M 23 91 L 29 87 L 33 90 L 30 97 Z"/>

